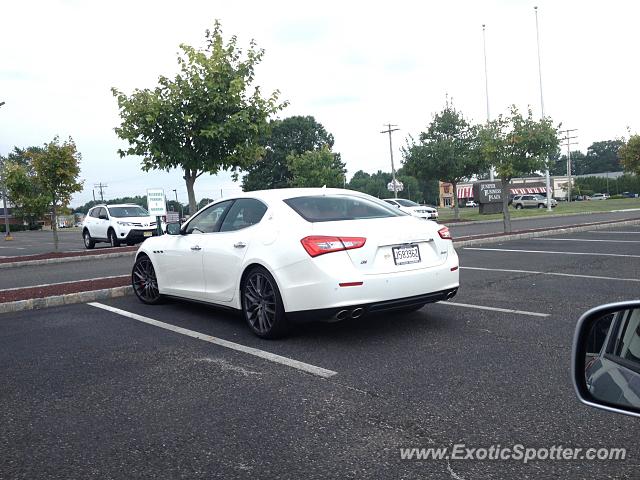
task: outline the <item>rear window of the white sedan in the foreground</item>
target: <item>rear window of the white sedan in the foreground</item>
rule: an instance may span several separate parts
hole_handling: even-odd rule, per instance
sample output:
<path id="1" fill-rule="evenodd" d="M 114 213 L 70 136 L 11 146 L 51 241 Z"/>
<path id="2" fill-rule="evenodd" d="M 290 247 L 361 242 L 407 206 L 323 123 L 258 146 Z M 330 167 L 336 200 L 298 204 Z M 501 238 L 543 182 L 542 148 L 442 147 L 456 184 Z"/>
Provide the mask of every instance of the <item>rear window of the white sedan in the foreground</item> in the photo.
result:
<path id="1" fill-rule="evenodd" d="M 308 222 L 335 222 L 406 215 L 382 201 L 377 203 L 366 198 L 348 195 L 296 197 L 289 198 L 284 203 Z"/>

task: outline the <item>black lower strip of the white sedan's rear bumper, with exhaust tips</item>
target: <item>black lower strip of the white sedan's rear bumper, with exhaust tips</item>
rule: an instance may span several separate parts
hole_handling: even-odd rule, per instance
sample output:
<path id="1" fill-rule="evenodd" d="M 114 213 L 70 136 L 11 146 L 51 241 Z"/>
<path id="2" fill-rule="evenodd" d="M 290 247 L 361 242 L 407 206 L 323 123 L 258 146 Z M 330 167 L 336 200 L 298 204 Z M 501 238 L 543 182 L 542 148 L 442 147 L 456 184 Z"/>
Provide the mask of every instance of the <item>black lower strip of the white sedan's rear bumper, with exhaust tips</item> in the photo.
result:
<path id="1" fill-rule="evenodd" d="M 297 312 L 287 312 L 287 319 L 293 323 L 305 323 L 318 320 L 327 322 L 346 320 L 348 318 L 359 318 L 374 313 L 401 310 L 403 308 L 424 305 L 425 303 L 435 303 L 441 300 L 449 300 L 458 293 L 458 287 L 440 290 L 438 292 L 415 295 L 413 297 L 398 298 L 395 300 L 385 300 L 364 305 L 349 305 L 342 307 L 322 308 L 316 310 L 299 310 Z"/>

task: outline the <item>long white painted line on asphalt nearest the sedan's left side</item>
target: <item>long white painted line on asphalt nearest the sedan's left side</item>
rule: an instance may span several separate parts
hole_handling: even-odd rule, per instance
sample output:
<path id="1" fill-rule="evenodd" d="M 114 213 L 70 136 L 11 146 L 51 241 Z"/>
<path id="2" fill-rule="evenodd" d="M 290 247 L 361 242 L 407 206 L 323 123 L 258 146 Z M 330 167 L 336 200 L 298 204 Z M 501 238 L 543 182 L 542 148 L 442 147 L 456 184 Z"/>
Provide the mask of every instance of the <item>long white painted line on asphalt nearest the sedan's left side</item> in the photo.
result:
<path id="1" fill-rule="evenodd" d="M 325 368 L 316 367 L 315 365 L 299 362 L 298 360 L 293 360 L 291 358 L 276 355 L 275 353 L 265 352 L 264 350 L 259 350 L 257 348 L 247 347 L 245 345 L 240 345 L 239 343 L 229 342 L 221 338 L 212 337 L 211 335 L 205 335 L 204 333 L 199 333 L 193 330 L 188 330 L 186 328 L 177 327 L 175 325 L 171 325 L 170 323 L 160 322 L 158 320 L 154 320 L 149 317 L 138 315 L 137 313 L 127 312 L 126 310 L 121 310 L 119 308 L 111 307 L 109 305 L 104 305 L 102 303 L 92 302 L 92 303 L 88 303 L 87 305 L 91 305 L 92 307 L 102 308 L 103 310 L 107 310 L 109 312 L 122 315 L 123 317 L 132 318 L 133 320 L 147 323 L 155 327 L 164 328 L 165 330 L 170 330 L 172 332 L 180 333 L 188 337 L 204 340 L 205 342 L 213 343 L 214 345 L 218 345 L 220 347 L 230 348 L 231 350 L 236 350 L 238 352 L 248 353 L 249 355 L 253 355 L 255 357 L 259 357 L 264 360 L 269 360 L 270 362 L 280 363 L 282 365 L 286 365 L 288 367 L 296 368 L 298 370 L 302 370 L 303 372 L 310 373 L 311 375 L 317 375 L 318 377 L 329 378 L 338 374 L 338 372 L 334 372 L 333 370 L 327 370 Z"/>

